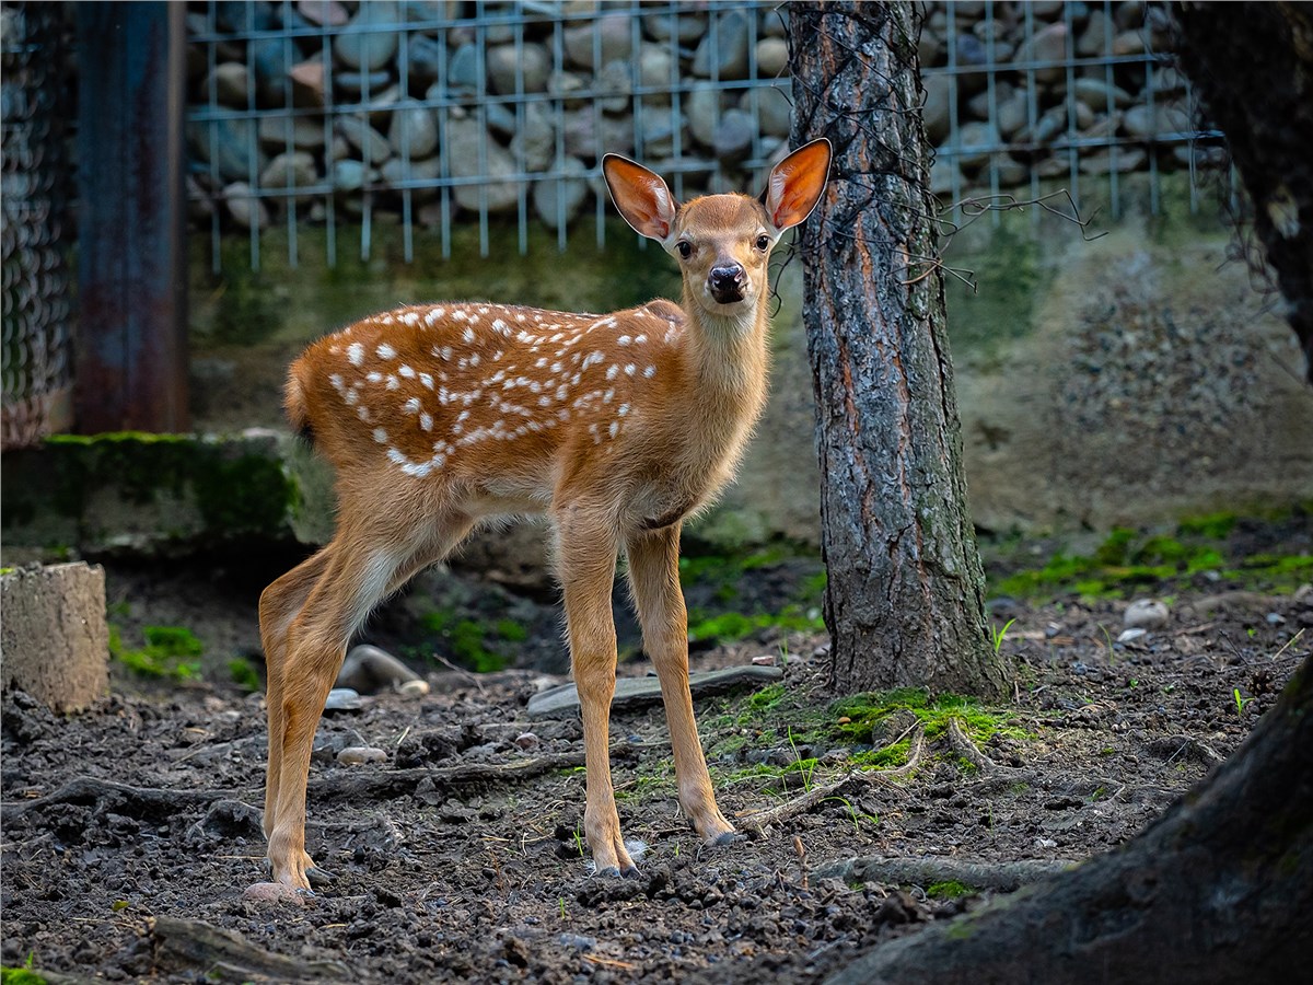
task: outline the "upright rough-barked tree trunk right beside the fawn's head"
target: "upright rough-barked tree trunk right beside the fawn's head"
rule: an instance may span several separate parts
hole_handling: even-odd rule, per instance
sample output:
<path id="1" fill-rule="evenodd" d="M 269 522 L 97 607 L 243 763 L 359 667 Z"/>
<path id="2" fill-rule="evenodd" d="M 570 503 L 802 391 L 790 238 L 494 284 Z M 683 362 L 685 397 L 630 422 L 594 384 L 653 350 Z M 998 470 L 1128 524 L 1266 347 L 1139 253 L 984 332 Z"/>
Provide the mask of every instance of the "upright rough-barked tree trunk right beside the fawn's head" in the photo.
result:
<path id="1" fill-rule="evenodd" d="M 790 4 L 794 143 L 835 168 L 798 248 L 817 405 L 830 683 L 981 696 L 985 629 L 944 334 L 910 3 Z"/>

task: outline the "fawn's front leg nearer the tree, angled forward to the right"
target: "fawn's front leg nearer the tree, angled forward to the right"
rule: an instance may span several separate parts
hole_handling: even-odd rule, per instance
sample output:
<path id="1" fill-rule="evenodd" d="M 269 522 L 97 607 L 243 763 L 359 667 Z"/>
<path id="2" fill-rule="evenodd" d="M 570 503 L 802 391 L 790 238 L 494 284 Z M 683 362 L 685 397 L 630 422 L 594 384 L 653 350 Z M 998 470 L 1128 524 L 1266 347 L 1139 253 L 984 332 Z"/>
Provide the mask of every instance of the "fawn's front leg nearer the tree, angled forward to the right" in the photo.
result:
<path id="1" fill-rule="evenodd" d="M 679 586 L 679 529 L 675 523 L 628 538 L 629 583 L 643 628 L 643 649 L 660 679 L 679 806 L 704 841 L 718 842 L 733 838 L 734 826 L 716 806 L 688 690 L 688 613 Z"/>

